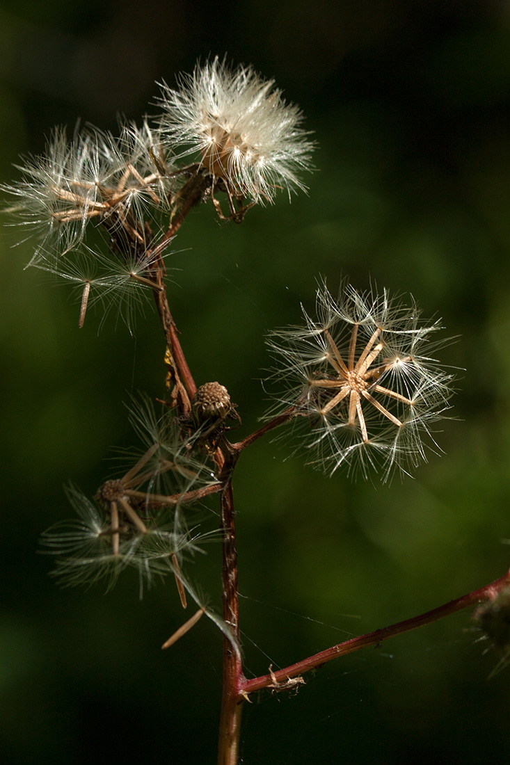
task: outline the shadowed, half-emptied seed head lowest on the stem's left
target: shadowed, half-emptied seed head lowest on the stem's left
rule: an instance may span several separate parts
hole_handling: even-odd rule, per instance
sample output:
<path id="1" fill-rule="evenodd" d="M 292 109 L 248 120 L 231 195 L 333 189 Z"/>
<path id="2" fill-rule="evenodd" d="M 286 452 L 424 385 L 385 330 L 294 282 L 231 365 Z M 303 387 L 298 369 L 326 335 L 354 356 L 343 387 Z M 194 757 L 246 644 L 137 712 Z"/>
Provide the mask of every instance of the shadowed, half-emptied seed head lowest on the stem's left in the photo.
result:
<path id="1" fill-rule="evenodd" d="M 133 399 L 131 411 L 142 454 L 130 455 L 123 477 L 106 480 L 93 500 L 70 487 L 78 519 L 57 524 L 41 540 L 57 555 L 54 573 L 64 584 L 106 579 L 111 587 L 126 568 L 136 568 L 141 588 L 170 572 L 185 583 L 182 558 L 209 536 L 188 528 L 183 506 L 219 485 L 211 470 L 191 456 L 171 413 L 160 417 L 147 399 Z"/>

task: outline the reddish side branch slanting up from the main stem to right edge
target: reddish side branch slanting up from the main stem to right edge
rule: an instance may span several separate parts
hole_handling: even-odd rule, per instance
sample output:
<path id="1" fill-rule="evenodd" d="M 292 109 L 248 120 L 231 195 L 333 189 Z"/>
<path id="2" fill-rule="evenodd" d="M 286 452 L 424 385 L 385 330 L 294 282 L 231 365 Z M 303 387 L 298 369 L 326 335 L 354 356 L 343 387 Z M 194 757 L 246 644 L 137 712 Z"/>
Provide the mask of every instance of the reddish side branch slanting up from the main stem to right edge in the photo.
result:
<path id="1" fill-rule="evenodd" d="M 510 571 L 501 578 L 491 582 L 491 584 L 486 584 L 485 587 L 479 588 L 479 590 L 473 590 L 443 606 L 433 608 L 433 610 L 427 611 L 425 614 L 420 614 L 420 616 L 412 617 L 411 619 L 406 619 L 397 622 L 396 624 L 391 624 L 390 627 L 383 627 L 381 630 L 375 630 L 366 635 L 353 637 L 351 640 L 345 640 L 345 643 L 338 643 L 338 645 L 332 646 L 332 648 L 328 648 L 320 653 L 315 653 L 314 656 L 302 659 L 302 661 L 296 662 L 296 664 L 291 664 L 290 666 L 285 667 L 285 669 L 279 669 L 278 672 L 273 672 L 273 675 L 261 675 L 252 680 L 246 680 L 241 683 L 240 690 L 245 693 L 251 693 L 253 691 L 260 691 L 261 688 L 266 688 L 269 685 L 273 685 L 275 679 L 276 682 L 285 682 L 290 678 L 302 675 L 304 672 L 309 672 L 310 669 L 322 666 L 322 664 L 330 662 L 338 656 L 346 656 L 348 653 L 358 651 L 360 648 L 375 646 L 378 643 L 382 643 L 383 640 L 388 640 L 390 637 L 401 635 L 404 632 L 410 632 L 410 630 L 416 630 L 418 627 L 423 627 L 426 624 L 430 624 L 438 619 L 454 614 L 456 611 L 472 606 L 487 597 L 494 597 L 495 594 L 508 584 L 510 584 Z"/>

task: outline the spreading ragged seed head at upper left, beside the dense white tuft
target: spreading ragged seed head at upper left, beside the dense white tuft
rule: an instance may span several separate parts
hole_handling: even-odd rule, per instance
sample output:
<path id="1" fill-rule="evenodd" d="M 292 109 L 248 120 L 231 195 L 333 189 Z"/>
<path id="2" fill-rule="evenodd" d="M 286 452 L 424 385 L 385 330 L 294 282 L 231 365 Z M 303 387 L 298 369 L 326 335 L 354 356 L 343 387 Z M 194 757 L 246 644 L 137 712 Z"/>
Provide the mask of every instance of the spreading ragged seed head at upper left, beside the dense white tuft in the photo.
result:
<path id="1" fill-rule="evenodd" d="M 141 129 L 123 125 L 119 138 L 89 128 L 69 140 L 65 129 L 54 129 L 44 154 L 18 169 L 21 181 L 3 190 L 18 197 L 11 212 L 38 239 L 31 265 L 75 249 L 90 221 L 143 246 L 147 207 L 168 207 L 171 174 L 146 120 Z"/>

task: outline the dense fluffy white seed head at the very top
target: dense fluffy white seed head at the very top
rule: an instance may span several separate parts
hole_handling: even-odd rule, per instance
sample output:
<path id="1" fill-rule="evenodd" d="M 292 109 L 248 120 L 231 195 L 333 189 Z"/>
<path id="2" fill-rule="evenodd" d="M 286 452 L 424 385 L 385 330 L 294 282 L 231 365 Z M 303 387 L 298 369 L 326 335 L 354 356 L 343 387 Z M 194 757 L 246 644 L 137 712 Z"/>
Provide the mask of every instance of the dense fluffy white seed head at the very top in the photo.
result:
<path id="1" fill-rule="evenodd" d="M 182 75 L 178 90 L 162 85 L 162 132 L 181 156 L 196 155 L 234 197 L 272 200 L 278 187 L 304 189 L 312 142 L 302 114 L 273 80 L 251 67 L 230 70 L 216 57 Z"/>

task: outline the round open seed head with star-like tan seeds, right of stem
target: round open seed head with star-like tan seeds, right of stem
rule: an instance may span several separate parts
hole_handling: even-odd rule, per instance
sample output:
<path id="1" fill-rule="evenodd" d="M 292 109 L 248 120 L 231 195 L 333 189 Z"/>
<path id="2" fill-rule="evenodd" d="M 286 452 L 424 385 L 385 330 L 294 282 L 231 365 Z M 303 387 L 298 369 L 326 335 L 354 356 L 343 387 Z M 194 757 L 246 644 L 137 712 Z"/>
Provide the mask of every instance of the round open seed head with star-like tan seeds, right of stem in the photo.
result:
<path id="1" fill-rule="evenodd" d="M 433 448 L 430 425 L 452 395 L 452 376 L 431 356 L 443 344 L 431 340 L 439 322 L 423 324 L 416 304 L 386 291 L 345 284 L 336 300 L 319 287 L 317 320 L 303 314 L 306 327 L 276 330 L 269 344 L 280 362 L 273 379 L 286 385 L 280 402 L 310 421 L 312 464 L 365 476 L 382 467 L 387 480 L 426 460 L 423 436 Z"/>

